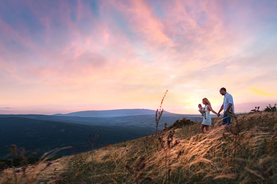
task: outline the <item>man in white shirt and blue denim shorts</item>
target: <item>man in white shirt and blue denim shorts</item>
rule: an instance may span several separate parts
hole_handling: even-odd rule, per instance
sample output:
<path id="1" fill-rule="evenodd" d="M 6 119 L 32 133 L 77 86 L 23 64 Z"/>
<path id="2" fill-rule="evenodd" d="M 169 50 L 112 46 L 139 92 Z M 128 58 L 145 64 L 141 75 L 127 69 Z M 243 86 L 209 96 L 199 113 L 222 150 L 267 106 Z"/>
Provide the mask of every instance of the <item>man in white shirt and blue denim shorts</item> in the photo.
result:
<path id="1" fill-rule="evenodd" d="M 227 132 L 230 132 L 231 116 L 232 113 L 235 113 L 233 97 L 231 94 L 226 92 L 226 89 L 224 87 L 219 90 L 219 93 L 222 96 L 224 95 L 224 99 L 217 116 L 220 116 L 219 113 L 224 109 L 222 125 L 225 126 Z"/>

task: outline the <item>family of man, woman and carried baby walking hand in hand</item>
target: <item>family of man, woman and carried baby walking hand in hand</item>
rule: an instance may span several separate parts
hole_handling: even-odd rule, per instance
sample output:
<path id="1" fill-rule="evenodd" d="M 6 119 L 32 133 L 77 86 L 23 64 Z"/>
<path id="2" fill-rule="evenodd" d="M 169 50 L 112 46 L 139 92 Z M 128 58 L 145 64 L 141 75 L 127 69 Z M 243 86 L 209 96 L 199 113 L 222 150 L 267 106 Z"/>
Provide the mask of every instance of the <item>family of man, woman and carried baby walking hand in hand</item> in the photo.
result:
<path id="1" fill-rule="evenodd" d="M 221 106 L 218 113 L 216 113 L 212 109 L 211 103 L 207 98 L 202 99 L 202 103 L 203 103 L 204 107 L 202 107 L 201 104 L 198 105 L 199 112 L 203 116 L 203 122 L 202 122 L 202 125 L 200 127 L 200 132 L 201 133 L 204 133 L 204 128 L 206 129 L 206 131 L 209 131 L 209 126 L 211 125 L 210 111 L 215 113 L 219 117 L 220 116 L 219 113 L 222 110 L 224 110 L 222 125 L 225 126 L 227 132 L 230 132 L 231 114 L 235 113 L 233 97 L 232 97 L 231 94 L 226 92 L 226 89 L 224 87 L 219 90 L 219 93 L 221 95 L 224 95 L 224 99 L 223 99 L 223 104 L 222 104 L 222 106 Z"/>

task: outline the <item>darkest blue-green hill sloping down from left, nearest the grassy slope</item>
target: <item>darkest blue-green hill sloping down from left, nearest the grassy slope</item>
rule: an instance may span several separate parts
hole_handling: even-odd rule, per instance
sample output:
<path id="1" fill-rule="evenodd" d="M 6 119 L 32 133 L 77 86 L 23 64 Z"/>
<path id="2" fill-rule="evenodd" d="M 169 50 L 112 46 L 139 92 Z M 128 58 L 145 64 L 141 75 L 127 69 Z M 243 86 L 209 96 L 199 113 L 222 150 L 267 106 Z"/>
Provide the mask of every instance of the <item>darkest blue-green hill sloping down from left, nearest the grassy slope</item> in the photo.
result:
<path id="1" fill-rule="evenodd" d="M 86 151 L 90 144 L 86 141 L 95 133 L 101 135 L 95 142 L 95 148 L 105 144 L 115 144 L 125 140 L 145 136 L 153 128 L 110 127 L 80 125 L 59 121 L 45 121 L 22 117 L 0 118 L 0 159 L 6 159 L 11 144 L 24 147 L 27 155 L 38 152 L 40 157 L 46 151 L 75 145 L 79 152 Z M 63 150 L 57 156 L 71 155 L 72 149 Z"/>

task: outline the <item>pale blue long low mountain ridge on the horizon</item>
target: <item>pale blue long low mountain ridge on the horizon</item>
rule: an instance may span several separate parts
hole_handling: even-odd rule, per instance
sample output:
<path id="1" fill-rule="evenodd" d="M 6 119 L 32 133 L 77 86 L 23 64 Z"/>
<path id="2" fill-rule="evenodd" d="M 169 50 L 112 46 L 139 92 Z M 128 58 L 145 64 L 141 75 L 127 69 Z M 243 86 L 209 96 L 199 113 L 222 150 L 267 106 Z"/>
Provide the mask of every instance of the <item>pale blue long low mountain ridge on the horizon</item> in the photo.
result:
<path id="1" fill-rule="evenodd" d="M 134 115 L 155 114 L 155 110 L 150 109 L 116 109 L 116 110 L 87 110 L 67 114 L 53 114 L 52 116 L 81 116 L 81 117 L 120 117 Z M 164 114 L 175 114 L 163 111 Z"/>

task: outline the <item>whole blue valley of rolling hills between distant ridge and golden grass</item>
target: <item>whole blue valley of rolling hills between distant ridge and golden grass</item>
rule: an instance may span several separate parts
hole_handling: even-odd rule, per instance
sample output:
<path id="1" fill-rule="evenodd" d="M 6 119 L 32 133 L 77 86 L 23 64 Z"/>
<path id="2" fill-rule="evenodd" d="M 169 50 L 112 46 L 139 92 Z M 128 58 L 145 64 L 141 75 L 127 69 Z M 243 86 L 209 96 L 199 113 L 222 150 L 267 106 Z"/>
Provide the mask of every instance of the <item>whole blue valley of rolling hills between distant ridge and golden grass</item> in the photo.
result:
<path id="1" fill-rule="evenodd" d="M 158 128 L 164 123 L 172 125 L 183 117 L 191 121 L 202 121 L 201 116 L 165 113 Z M 36 151 L 38 156 L 54 148 L 76 145 L 85 151 L 86 139 L 95 133 L 101 134 L 96 147 L 114 144 L 145 136 L 155 130 L 155 115 L 134 115 L 121 117 L 76 117 L 50 116 L 38 114 L 0 115 L 0 159 L 7 158 L 11 144 L 26 148 L 27 153 Z M 64 150 L 58 156 L 70 155 L 72 150 Z"/>

